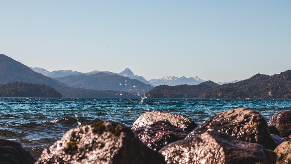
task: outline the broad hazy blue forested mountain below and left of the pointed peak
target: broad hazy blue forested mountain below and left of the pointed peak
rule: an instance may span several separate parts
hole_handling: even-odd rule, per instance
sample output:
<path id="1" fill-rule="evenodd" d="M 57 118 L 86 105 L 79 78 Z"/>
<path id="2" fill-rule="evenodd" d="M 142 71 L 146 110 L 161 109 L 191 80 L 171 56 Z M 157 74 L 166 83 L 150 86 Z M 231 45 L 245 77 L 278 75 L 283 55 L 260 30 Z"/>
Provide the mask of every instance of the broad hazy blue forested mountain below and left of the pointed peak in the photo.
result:
<path id="1" fill-rule="evenodd" d="M 120 75 L 109 75 L 102 72 L 92 75 L 69 75 L 65 77 L 57 77 L 55 79 L 75 88 L 118 90 L 136 94 L 144 94 L 153 88 L 152 86 L 144 84 L 136 79 Z"/>

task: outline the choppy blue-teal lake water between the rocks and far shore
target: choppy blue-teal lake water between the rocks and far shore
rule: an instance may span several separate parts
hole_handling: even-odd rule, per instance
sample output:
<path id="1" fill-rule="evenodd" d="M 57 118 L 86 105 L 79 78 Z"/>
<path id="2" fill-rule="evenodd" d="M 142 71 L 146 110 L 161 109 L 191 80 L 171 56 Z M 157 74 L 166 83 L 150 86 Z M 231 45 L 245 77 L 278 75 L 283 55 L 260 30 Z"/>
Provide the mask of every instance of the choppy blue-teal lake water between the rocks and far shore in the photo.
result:
<path id="1" fill-rule="evenodd" d="M 22 143 L 38 157 L 71 128 L 104 120 L 131 127 L 144 112 L 183 114 L 196 124 L 237 107 L 258 111 L 268 122 L 290 99 L 116 99 L 116 98 L 0 98 L 0 138 Z"/>

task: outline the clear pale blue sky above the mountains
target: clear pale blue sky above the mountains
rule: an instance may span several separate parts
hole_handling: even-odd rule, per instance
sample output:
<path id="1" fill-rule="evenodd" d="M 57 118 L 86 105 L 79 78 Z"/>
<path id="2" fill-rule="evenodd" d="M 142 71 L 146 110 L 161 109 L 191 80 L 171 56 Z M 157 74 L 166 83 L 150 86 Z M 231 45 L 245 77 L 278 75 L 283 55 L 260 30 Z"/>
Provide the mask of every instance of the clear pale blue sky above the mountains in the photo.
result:
<path id="1" fill-rule="evenodd" d="M 291 69 L 291 1 L 0 1 L 0 53 L 49 71 L 229 82 Z"/>

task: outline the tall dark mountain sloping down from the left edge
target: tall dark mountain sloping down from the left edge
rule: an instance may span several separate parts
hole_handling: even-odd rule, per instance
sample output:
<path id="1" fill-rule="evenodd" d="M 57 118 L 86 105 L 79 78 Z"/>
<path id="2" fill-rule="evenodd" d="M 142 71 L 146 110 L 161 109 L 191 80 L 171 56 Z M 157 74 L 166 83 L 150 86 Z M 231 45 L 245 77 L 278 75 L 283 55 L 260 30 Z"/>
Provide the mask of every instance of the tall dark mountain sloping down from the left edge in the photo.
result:
<path id="1" fill-rule="evenodd" d="M 36 73 L 28 66 L 25 66 L 4 54 L 0 54 L 0 84 L 12 82 L 47 84 L 53 88 L 68 87 L 65 83 L 59 82 L 40 73 Z"/>

